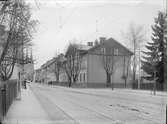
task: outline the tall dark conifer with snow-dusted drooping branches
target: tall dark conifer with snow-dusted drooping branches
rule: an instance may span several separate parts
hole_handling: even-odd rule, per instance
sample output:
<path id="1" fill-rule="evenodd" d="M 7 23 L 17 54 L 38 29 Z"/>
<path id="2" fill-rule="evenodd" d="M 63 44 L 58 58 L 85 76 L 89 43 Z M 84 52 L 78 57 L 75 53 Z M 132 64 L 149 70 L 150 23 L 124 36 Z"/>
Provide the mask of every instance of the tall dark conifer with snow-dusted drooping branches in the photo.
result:
<path id="1" fill-rule="evenodd" d="M 152 41 L 147 42 L 146 48 L 148 51 L 143 51 L 145 56 L 143 56 L 143 70 L 148 74 L 145 77 L 147 80 L 154 80 L 161 84 L 161 89 L 163 89 L 164 83 L 164 60 L 166 48 L 166 40 L 164 40 L 164 13 L 159 12 L 158 17 L 154 20 L 155 24 L 152 25 Z"/>

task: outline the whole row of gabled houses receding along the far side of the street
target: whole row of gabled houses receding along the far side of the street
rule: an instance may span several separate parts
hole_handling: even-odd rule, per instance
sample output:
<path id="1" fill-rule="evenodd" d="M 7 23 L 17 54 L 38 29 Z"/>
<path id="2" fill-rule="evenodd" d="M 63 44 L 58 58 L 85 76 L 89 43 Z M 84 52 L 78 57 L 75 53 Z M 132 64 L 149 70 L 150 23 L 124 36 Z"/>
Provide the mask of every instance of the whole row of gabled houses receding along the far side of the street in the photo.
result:
<path id="1" fill-rule="evenodd" d="M 114 87 L 132 87 L 131 57 L 133 53 L 113 38 L 100 37 L 87 45 L 76 44 L 80 62 L 72 75 L 72 86 L 106 87 L 107 81 Z M 69 64 L 72 59 L 70 47 L 65 54 L 47 61 L 36 72 L 36 81 L 41 83 L 69 83 Z M 77 64 L 77 56 L 75 57 Z M 72 64 L 72 63 L 71 63 Z M 68 66 L 68 67 L 67 67 Z M 72 66 L 72 65 L 71 65 Z M 61 68 L 60 68 L 61 67 Z M 79 68 L 79 71 L 77 70 Z M 78 71 L 78 74 L 77 74 Z M 110 73 L 107 76 L 107 72 Z M 71 75 L 71 76 L 72 76 Z"/>

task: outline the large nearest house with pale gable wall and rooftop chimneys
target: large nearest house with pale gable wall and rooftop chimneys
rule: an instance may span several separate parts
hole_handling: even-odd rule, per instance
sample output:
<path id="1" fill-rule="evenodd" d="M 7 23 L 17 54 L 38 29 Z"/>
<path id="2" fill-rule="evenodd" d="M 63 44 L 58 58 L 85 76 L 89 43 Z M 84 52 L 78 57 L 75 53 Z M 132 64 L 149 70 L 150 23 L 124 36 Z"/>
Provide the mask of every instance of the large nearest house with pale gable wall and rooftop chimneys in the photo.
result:
<path id="1" fill-rule="evenodd" d="M 125 71 L 130 73 L 129 60 L 133 53 L 125 46 L 120 44 L 113 38 L 106 39 L 100 38 L 100 42 L 89 42 L 88 46 L 78 45 L 76 46 L 82 57 L 81 69 L 78 76 L 78 80 L 74 85 L 81 87 L 106 87 L 106 71 L 104 69 L 103 54 L 108 56 L 114 56 L 114 69 L 112 74 L 112 83 L 114 87 L 124 87 L 125 80 L 123 79 Z M 68 50 L 67 50 L 68 52 Z M 60 81 L 67 82 L 67 75 L 65 71 L 61 71 Z M 131 77 L 127 77 L 127 87 L 131 87 Z"/>

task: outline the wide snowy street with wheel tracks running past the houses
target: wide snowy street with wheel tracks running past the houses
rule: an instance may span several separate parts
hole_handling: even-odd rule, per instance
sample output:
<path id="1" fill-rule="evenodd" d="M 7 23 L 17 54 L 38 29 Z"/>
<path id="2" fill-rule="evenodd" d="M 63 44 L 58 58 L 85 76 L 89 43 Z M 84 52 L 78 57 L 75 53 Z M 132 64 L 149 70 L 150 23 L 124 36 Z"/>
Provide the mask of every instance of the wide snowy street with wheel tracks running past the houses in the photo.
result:
<path id="1" fill-rule="evenodd" d="M 30 88 L 53 123 L 165 124 L 165 95 L 38 84 Z"/>

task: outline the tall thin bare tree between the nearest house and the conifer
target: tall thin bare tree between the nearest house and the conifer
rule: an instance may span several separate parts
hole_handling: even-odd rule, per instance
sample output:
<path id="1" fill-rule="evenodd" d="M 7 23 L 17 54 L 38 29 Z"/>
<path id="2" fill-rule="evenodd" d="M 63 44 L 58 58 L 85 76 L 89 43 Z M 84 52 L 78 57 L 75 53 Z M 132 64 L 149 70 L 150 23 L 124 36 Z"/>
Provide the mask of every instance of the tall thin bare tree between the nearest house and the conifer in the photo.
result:
<path id="1" fill-rule="evenodd" d="M 137 58 L 137 52 L 140 52 L 141 44 L 146 41 L 143 26 L 135 25 L 133 23 L 130 24 L 126 39 L 133 44 L 133 81 L 135 82 L 137 61 L 140 61 L 140 58 Z"/>

